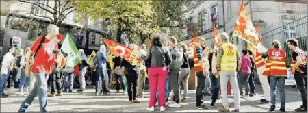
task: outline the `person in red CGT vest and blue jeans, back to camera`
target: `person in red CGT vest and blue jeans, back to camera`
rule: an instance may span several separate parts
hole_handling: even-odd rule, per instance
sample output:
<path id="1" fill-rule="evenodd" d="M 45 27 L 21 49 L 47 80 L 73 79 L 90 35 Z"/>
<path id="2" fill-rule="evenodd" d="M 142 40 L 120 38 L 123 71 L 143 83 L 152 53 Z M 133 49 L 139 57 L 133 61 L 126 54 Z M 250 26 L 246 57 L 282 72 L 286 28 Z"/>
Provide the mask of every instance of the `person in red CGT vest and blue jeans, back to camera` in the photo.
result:
<path id="1" fill-rule="evenodd" d="M 270 111 L 276 108 L 276 87 L 279 86 L 280 92 L 280 111 L 285 112 L 285 79 L 287 79 L 287 64 L 285 63 L 285 51 L 281 49 L 278 40 L 272 41 L 272 49 L 262 55 L 266 59 L 264 76 L 270 77 Z"/>

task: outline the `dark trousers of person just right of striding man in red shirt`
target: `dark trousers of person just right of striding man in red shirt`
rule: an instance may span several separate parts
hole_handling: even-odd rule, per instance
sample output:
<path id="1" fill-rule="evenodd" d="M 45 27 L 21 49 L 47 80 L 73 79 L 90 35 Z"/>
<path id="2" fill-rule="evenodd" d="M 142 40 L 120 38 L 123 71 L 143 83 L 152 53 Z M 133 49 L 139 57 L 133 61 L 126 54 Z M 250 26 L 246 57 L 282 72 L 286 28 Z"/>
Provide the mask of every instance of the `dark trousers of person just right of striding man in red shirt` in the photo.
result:
<path id="1" fill-rule="evenodd" d="M 58 68 L 53 68 L 53 73 L 49 76 L 49 84 L 51 86 L 51 94 L 55 94 L 55 88 L 57 88 L 57 93 L 62 92 L 61 88 L 61 70 Z"/>

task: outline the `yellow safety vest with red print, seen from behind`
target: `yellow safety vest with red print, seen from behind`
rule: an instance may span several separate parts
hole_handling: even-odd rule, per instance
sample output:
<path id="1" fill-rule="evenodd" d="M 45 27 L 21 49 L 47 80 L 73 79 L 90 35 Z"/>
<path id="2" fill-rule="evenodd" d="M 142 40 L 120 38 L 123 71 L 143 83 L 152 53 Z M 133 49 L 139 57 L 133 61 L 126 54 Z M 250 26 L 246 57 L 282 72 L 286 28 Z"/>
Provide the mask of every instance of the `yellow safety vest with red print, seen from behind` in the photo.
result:
<path id="1" fill-rule="evenodd" d="M 236 47 L 232 44 L 224 43 L 221 45 L 224 50 L 224 55 L 221 59 L 221 70 L 235 71 L 236 69 Z"/>

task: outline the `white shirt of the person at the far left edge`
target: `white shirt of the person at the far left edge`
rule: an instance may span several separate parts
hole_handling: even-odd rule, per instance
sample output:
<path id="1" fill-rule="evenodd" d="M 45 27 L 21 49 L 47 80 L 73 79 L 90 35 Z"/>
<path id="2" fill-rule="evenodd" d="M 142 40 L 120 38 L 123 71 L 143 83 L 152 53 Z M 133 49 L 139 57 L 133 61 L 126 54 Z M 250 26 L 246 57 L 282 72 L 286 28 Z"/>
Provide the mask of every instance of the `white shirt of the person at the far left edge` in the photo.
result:
<path id="1" fill-rule="evenodd" d="M 11 68 L 11 63 L 14 60 L 14 55 L 10 52 L 3 56 L 3 61 L 1 63 L 1 74 L 8 74 L 8 70 Z"/>

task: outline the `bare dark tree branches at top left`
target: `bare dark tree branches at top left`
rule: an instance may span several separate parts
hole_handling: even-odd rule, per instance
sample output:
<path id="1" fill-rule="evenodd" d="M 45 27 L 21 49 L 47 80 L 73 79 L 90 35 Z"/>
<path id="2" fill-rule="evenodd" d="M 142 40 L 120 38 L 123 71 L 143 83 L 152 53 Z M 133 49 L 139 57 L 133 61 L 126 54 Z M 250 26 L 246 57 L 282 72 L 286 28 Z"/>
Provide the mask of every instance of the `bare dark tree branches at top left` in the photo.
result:
<path id="1" fill-rule="evenodd" d="M 40 8 L 40 10 L 44 10 L 45 12 L 51 14 L 52 16 L 46 16 L 46 15 L 40 15 L 33 12 L 33 10 L 30 12 L 30 14 L 33 14 L 34 16 L 47 18 L 51 21 L 52 24 L 55 24 L 57 26 L 60 26 L 61 23 L 64 21 L 66 16 L 70 14 L 71 12 L 74 12 L 76 9 L 74 8 L 75 0 L 53 0 L 53 5 L 41 3 L 40 1 L 29 1 L 29 0 L 19 0 L 21 3 L 30 3 L 33 8 Z"/>

